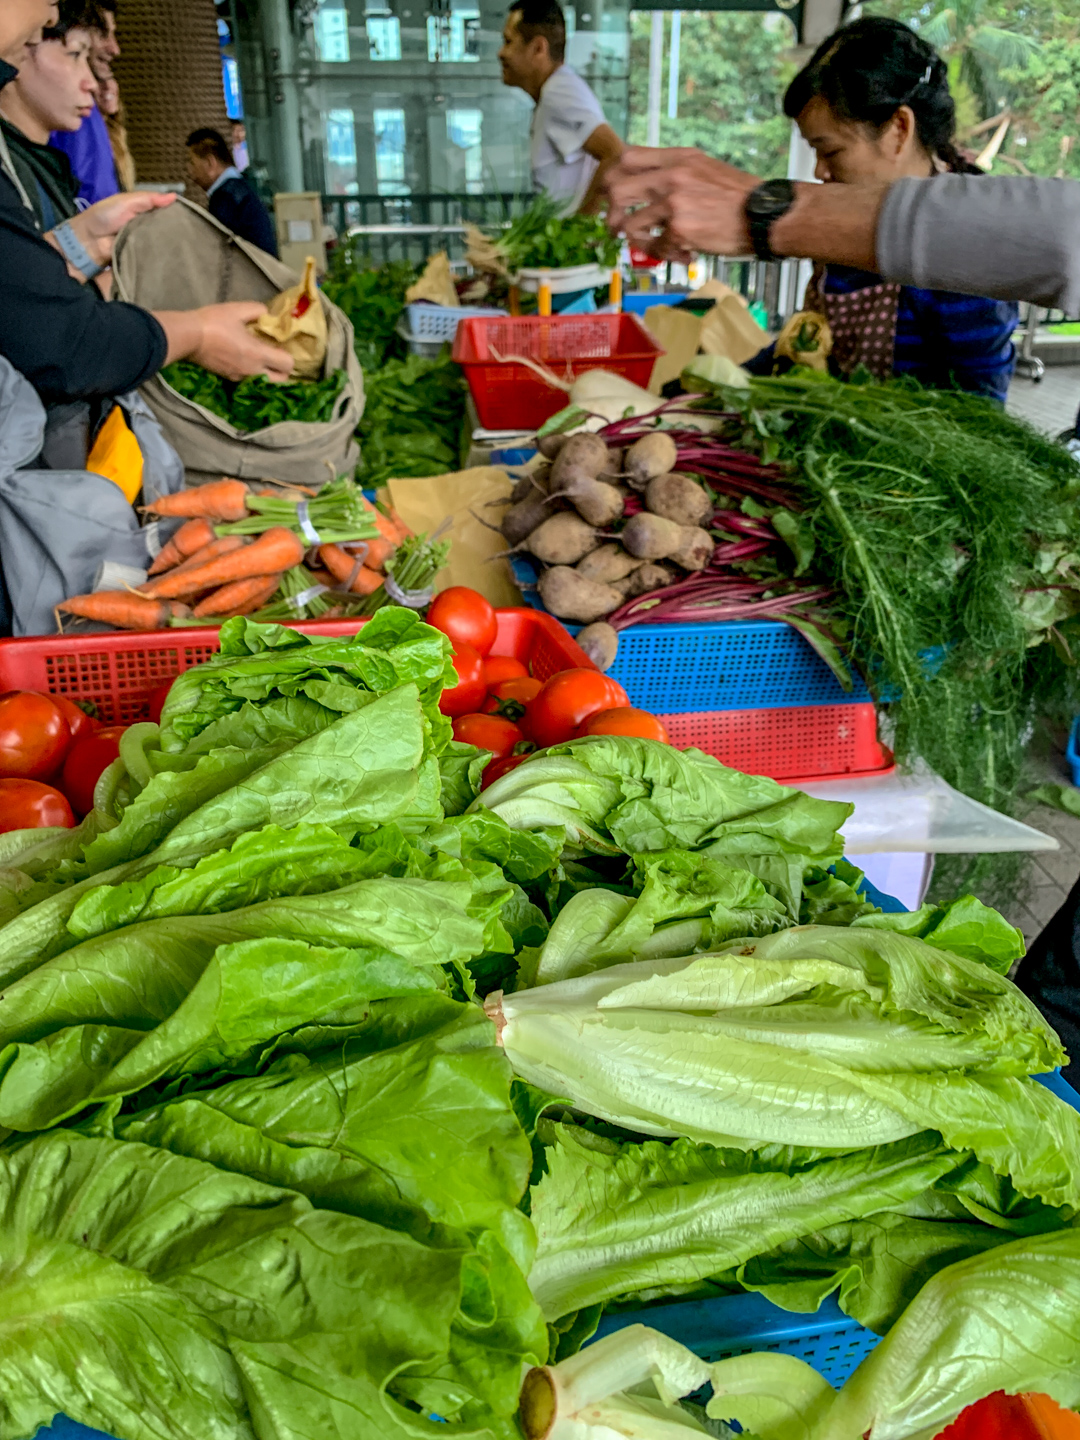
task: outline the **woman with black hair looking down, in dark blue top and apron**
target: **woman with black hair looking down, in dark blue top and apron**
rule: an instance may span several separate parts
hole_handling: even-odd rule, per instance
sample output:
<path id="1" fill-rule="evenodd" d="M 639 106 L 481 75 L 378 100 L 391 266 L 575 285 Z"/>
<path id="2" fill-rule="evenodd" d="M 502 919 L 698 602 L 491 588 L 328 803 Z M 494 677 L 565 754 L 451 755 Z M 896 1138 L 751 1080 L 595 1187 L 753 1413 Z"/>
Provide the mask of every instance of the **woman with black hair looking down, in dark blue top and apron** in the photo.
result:
<path id="1" fill-rule="evenodd" d="M 897 20 L 837 30 L 788 88 L 783 108 L 814 148 L 818 180 L 837 184 L 975 171 L 958 153 L 945 60 Z M 834 373 L 865 367 L 1004 402 L 1012 377 L 1017 305 L 916 289 L 828 265 L 814 272 L 804 310 L 829 324 Z M 749 369 L 768 373 L 772 351 Z"/>

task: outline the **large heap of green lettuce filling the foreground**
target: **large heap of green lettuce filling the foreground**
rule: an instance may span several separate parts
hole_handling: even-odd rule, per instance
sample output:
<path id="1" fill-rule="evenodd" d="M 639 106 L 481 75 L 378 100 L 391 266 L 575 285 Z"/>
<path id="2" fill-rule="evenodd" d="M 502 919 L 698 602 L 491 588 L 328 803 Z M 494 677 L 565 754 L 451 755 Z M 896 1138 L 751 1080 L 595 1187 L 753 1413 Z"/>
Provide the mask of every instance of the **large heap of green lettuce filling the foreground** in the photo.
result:
<path id="1" fill-rule="evenodd" d="M 511 1440 L 523 1367 L 618 1296 L 842 1280 L 886 1328 L 956 1261 L 1070 1243 L 1080 1116 L 1028 1079 L 1061 1056 L 1015 930 L 969 897 L 881 916 L 848 806 L 698 752 L 586 736 L 481 791 L 452 644 L 399 606 L 348 639 L 229 621 L 78 828 L 0 837 L 12 1440 L 58 1411 Z M 531 680 L 504 660 L 485 688 Z M 541 1093 L 530 1008 L 651 1017 L 657 1083 L 616 1109 L 579 1045 Z"/>

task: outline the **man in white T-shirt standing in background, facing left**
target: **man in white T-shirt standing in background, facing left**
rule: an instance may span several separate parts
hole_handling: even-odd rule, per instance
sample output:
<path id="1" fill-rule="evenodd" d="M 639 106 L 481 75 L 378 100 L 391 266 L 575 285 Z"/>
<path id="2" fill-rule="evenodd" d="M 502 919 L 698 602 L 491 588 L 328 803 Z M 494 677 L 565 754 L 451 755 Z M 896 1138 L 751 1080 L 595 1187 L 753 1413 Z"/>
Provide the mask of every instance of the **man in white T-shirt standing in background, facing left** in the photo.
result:
<path id="1" fill-rule="evenodd" d="M 603 118 L 600 102 L 563 62 L 566 20 L 557 0 L 517 0 L 503 29 L 503 84 L 533 96 L 530 135 L 533 187 L 544 190 L 563 215 L 599 209 L 605 173 L 622 154 L 622 141 Z"/>

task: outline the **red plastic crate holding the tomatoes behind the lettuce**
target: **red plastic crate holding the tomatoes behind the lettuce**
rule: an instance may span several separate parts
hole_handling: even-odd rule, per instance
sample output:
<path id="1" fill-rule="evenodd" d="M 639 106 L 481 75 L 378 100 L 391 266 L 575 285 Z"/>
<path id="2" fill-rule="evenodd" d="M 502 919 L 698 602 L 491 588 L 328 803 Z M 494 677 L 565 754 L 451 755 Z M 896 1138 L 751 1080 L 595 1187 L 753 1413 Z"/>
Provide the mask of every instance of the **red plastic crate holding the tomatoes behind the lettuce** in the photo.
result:
<path id="1" fill-rule="evenodd" d="M 363 621 L 304 621 L 308 635 L 353 635 Z M 107 724 L 145 720 L 147 701 L 166 681 L 217 651 L 217 629 L 145 635 L 35 635 L 0 641 L 0 691 L 39 690 L 92 700 Z M 596 667 L 557 619 L 531 609 L 498 612 L 495 654 L 513 655 L 537 680 L 557 670 Z"/>

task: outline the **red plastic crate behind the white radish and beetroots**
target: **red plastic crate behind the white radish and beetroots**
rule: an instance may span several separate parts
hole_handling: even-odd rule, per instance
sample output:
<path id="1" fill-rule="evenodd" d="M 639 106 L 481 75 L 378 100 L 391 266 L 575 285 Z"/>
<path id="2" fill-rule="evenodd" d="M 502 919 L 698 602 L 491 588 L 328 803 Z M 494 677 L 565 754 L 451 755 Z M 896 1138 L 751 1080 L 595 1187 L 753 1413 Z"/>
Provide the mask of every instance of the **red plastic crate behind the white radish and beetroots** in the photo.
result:
<path id="1" fill-rule="evenodd" d="M 488 431 L 531 431 L 562 410 L 566 392 L 544 384 L 524 356 L 559 380 L 613 370 L 647 386 L 664 354 L 636 315 L 485 315 L 462 320 L 454 359 L 465 372 L 480 423 Z"/>

